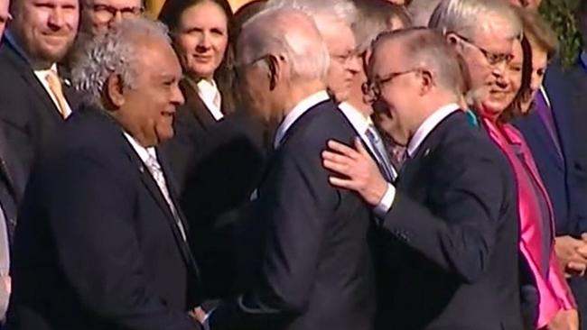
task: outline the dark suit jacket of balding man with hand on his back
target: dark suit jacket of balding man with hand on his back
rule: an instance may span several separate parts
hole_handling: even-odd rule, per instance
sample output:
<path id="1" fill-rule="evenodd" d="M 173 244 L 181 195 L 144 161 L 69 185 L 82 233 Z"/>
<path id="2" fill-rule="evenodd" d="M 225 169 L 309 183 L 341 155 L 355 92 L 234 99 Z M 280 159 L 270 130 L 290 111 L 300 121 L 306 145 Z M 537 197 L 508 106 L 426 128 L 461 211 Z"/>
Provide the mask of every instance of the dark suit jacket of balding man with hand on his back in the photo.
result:
<path id="1" fill-rule="evenodd" d="M 258 189 L 266 248 L 255 289 L 220 305 L 212 329 L 372 329 L 375 291 L 367 232 L 370 207 L 333 188 L 321 151 L 356 133 L 331 101 L 285 134 Z"/>

